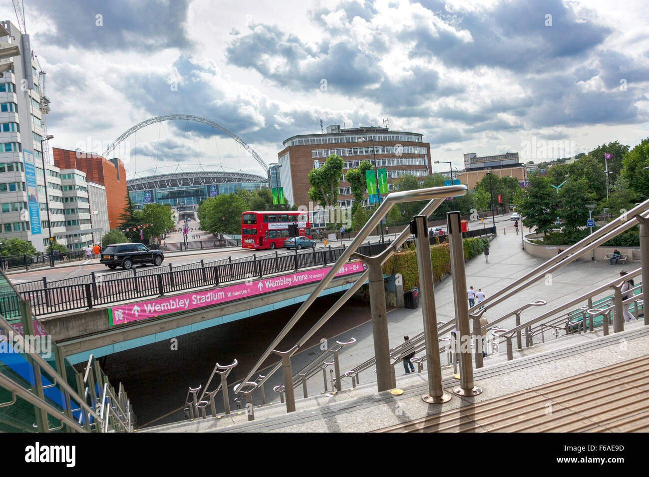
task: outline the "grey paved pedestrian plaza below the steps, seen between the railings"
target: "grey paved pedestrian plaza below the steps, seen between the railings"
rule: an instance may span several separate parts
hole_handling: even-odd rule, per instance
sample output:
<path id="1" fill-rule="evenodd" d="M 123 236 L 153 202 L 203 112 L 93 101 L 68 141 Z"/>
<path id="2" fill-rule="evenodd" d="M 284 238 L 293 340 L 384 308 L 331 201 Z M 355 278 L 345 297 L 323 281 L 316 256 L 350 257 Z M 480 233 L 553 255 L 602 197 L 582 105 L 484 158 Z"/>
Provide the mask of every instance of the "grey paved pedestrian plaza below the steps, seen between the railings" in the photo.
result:
<path id="1" fill-rule="evenodd" d="M 507 234 L 502 234 L 501 226 L 509 227 Z M 520 232 L 519 232 L 520 233 Z M 465 264 L 467 274 L 467 286 L 473 286 L 474 289 L 481 288 L 487 297 L 490 293 L 495 293 L 501 288 L 508 287 L 516 278 L 524 275 L 530 269 L 537 267 L 543 263 L 543 260 L 535 257 L 528 256 L 526 252 L 522 251 L 520 246 L 520 237 L 517 236 L 513 230 L 513 226 L 500 223 L 498 225 L 498 235 L 491 241 L 491 248 L 489 253 L 489 263 L 485 262 L 483 255 L 473 258 Z M 522 321 L 532 319 L 542 313 L 546 313 L 550 307 L 555 307 L 569 300 L 573 299 L 576 295 L 598 287 L 611 278 L 617 276 L 619 269 L 612 269 L 609 263 L 600 262 L 572 262 L 565 265 L 559 271 L 556 271 L 550 276 L 545 276 L 545 279 L 540 280 L 536 284 L 528 287 L 524 293 L 519 293 L 515 297 L 511 297 L 504 302 L 489 308 L 484 317 L 487 320 L 495 320 L 503 315 L 508 314 L 511 310 L 519 308 L 523 304 L 533 302 L 535 300 L 545 300 L 548 302 L 546 306 L 539 306 L 529 308 L 521 314 Z M 454 297 L 452 289 L 452 280 L 443 280 L 435 284 L 435 308 L 437 310 L 438 321 L 451 321 L 454 320 Z M 464 294 L 463 294 L 464 295 Z M 605 297 L 609 293 L 602 293 L 601 297 Z M 465 299 L 463 296 L 462 299 Z M 575 307 L 577 308 L 577 307 Z M 323 313 L 324 310 L 321 310 Z M 332 319 L 336 319 L 334 315 Z M 415 336 L 423 331 L 422 309 L 408 310 L 405 308 L 394 308 L 387 312 L 388 332 L 390 347 L 395 347 L 403 342 L 404 334 Z M 504 328 L 512 328 L 515 324 L 515 317 L 504 320 L 499 326 Z M 337 335 L 326 335 L 322 331 L 316 332 L 314 337 L 320 341 L 322 338 L 328 339 L 329 342 L 335 339 L 338 341 L 349 341 L 352 337 L 356 339 L 356 343 L 352 346 L 345 347 L 339 354 L 341 374 L 349 371 L 354 366 L 362 363 L 374 356 L 374 343 L 372 336 L 371 321 L 355 326 Z M 291 343 L 283 343 L 284 348 L 288 349 Z M 536 351 L 543 350 L 543 345 L 537 345 Z M 310 363 L 313 357 L 319 354 L 319 345 L 308 347 L 300 350 L 291 358 L 293 371 L 297 371 Z M 527 353 L 530 354 L 529 350 Z M 237 356 L 234 356 L 236 358 Z M 502 359 L 502 356 L 500 357 Z M 485 358 L 485 366 L 491 363 L 496 363 L 498 360 L 494 356 Z M 257 373 L 265 374 L 268 368 L 260 369 Z M 237 369 L 236 375 L 241 377 L 249 371 L 248 369 Z M 403 367 L 397 365 L 395 367 L 397 373 L 397 382 L 404 377 Z M 425 375 L 425 373 L 424 373 Z M 375 381 L 375 374 L 365 371 L 362 374 L 362 383 Z M 207 378 L 207 376 L 206 376 Z M 343 378 L 345 387 L 349 387 L 352 383 L 350 379 Z M 196 383 L 201 384 L 201 383 Z M 202 383 L 204 384 L 204 383 Z M 236 382 L 228 383 L 234 385 Z M 282 384 L 282 373 L 276 372 L 265 384 L 265 397 L 267 402 L 279 402 L 279 397 L 273 393 L 272 389 L 276 385 Z M 322 376 L 314 376 L 308 382 L 308 389 L 310 393 L 320 393 L 322 387 Z M 302 389 L 296 389 L 296 396 L 302 395 Z M 230 398 L 234 398 L 234 393 L 230 392 Z M 253 393 L 254 402 L 261 401 L 259 391 Z M 219 399 L 217 399 L 217 404 Z M 220 404 L 222 408 L 222 403 Z M 232 402 L 232 406 L 236 408 L 236 404 Z M 158 422 L 171 422 L 179 421 L 182 419 L 182 408 L 178 409 L 175 413 L 167 416 L 166 419 Z"/>

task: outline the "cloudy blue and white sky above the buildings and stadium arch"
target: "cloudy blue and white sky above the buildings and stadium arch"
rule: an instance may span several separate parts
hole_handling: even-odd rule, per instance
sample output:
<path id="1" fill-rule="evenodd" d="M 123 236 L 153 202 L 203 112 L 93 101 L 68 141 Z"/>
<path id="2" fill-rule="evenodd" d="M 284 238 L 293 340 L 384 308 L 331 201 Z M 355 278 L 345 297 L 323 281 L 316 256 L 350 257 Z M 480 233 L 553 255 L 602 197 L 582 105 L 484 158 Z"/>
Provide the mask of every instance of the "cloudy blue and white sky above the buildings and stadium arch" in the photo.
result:
<path id="1" fill-rule="evenodd" d="M 12 2 L 0 7 L 16 23 Z M 289 136 L 319 132 L 320 119 L 358 127 L 389 118 L 391 129 L 422 132 L 433 160 L 462 168 L 463 153 L 534 142 L 568 156 L 649 136 L 649 9 L 646 0 L 623 7 L 25 0 L 25 21 L 47 71 L 53 146 L 101 153 L 140 121 L 177 113 L 215 121 L 270 163 Z M 198 162 L 262 172 L 198 123 L 158 123 L 127 142 L 131 174 Z"/>

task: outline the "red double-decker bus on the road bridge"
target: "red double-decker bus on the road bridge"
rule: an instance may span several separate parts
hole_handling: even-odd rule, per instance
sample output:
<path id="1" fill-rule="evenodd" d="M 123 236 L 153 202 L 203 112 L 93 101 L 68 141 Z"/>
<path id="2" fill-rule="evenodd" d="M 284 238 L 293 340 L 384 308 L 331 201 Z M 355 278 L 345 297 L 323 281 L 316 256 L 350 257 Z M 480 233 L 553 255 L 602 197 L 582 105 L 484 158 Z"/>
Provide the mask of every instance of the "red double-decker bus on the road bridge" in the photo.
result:
<path id="1" fill-rule="evenodd" d="M 297 224 L 300 237 L 311 238 L 306 212 L 243 212 L 241 214 L 241 247 L 275 249 L 284 247 L 289 225 Z"/>

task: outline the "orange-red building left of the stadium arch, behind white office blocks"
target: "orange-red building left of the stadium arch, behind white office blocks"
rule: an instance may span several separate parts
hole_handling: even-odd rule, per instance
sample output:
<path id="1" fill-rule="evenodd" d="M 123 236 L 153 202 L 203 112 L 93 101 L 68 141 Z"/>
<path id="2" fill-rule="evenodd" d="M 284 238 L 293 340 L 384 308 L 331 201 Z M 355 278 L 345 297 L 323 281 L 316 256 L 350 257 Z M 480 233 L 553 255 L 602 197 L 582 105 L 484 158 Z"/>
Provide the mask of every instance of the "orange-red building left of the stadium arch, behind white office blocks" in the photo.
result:
<path id="1" fill-rule="evenodd" d="M 92 153 L 69 151 L 53 147 L 54 164 L 61 169 L 79 169 L 86 173 L 89 182 L 106 188 L 108 223 L 110 228 L 119 226 L 119 214 L 127 206 L 126 171 L 124 163 L 117 158 L 106 159 Z"/>

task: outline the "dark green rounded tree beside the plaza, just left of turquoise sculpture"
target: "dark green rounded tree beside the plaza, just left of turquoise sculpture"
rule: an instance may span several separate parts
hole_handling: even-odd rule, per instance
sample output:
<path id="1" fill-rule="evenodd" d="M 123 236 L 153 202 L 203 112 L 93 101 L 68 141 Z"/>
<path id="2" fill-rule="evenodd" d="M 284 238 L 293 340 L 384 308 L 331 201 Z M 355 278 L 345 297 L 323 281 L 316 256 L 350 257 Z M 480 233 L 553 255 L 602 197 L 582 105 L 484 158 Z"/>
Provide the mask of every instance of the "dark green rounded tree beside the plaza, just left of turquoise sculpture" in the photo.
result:
<path id="1" fill-rule="evenodd" d="M 546 177 L 532 174 L 529 182 L 518 212 L 523 217 L 524 226 L 534 227 L 535 232 L 543 232 L 545 235 L 556 220 L 557 193 L 550 187 L 550 181 Z"/>

